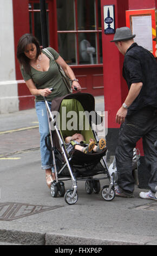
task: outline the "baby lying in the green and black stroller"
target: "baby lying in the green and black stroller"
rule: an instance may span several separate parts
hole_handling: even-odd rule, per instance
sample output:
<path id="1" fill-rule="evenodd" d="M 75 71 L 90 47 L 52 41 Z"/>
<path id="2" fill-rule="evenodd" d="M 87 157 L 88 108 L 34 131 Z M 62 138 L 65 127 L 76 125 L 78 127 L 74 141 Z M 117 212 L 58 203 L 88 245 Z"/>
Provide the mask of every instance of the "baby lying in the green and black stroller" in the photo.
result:
<path id="1" fill-rule="evenodd" d="M 106 147 L 105 139 L 101 138 L 98 145 L 95 145 L 94 139 L 89 139 L 89 144 L 86 143 L 83 135 L 81 133 L 75 133 L 73 136 L 68 136 L 65 138 L 66 148 L 68 154 L 74 148 L 82 151 L 84 154 L 101 153 L 101 151 Z"/>

